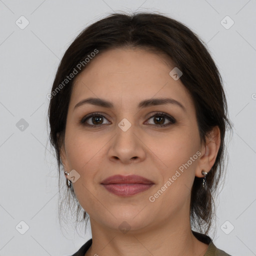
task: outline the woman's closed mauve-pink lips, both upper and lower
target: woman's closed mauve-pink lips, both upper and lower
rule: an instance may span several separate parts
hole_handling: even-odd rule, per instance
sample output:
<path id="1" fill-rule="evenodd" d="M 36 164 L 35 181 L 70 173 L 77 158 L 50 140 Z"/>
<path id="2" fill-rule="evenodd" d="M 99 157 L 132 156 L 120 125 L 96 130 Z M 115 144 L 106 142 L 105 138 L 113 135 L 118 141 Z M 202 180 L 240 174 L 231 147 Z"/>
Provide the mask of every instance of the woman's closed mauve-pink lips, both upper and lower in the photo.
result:
<path id="1" fill-rule="evenodd" d="M 111 193 L 129 196 L 147 190 L 154 183 L 138 175 L 113 175 L 104 179 L 101 184 Z"/>

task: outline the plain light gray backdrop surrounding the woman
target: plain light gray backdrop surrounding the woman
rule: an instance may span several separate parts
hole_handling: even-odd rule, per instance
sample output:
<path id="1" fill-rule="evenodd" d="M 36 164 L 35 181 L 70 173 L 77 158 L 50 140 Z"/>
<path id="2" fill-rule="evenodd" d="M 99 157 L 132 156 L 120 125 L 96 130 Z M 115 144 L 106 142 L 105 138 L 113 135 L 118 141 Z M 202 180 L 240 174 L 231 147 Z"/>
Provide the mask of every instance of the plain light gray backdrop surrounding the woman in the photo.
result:
<path id="1" fill-rule="evenodd" d="M 0 255 L 70 255 L 90 238 L 58 223 L 46 95 L 78 32 L 119 10 L 165 13 L 207 43 L 234 125 L 213 242 L 234 256 L 256 255 L 255 0 L 0 0 Z M 22 15 L 24 29 L 15 23 L 25 24 Z"/>

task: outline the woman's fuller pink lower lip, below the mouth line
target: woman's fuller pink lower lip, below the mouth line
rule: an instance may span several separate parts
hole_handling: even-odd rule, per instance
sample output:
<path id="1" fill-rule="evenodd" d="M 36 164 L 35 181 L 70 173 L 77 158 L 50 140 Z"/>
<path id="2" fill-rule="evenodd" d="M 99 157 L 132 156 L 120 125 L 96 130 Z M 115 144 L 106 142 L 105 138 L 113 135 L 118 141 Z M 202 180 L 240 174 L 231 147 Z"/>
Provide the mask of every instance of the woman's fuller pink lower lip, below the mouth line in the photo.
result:
<path id="1" fill-rule="evenodd" d="M 119 196 L 129 196 L 140 193 L 149 189 L 153 184 L 142 183 L 118 183 L 118 184 L 102 184 L 109 192 Z"/>

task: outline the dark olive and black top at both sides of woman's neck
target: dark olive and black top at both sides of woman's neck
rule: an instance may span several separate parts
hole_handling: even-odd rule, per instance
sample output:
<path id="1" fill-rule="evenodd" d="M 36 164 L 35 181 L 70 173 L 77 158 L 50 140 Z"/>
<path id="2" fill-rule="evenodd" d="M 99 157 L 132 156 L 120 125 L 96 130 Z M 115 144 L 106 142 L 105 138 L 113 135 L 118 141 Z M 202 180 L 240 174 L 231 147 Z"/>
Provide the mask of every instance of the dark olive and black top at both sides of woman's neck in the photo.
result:
<path id="1" fill-rule="evenodd" d="M 231 256 L 223 250 L 218 249 L 212 242 L 211 238 L 206 234 L 201 234 L 192 230 L 193 235 L 201 242 L 208 244 L 208 249 L 203 256 Z M 71 256 L 84 256 L 85 252 L 89 249 L 92 239 L 85 242 L 78 251 Z"/>

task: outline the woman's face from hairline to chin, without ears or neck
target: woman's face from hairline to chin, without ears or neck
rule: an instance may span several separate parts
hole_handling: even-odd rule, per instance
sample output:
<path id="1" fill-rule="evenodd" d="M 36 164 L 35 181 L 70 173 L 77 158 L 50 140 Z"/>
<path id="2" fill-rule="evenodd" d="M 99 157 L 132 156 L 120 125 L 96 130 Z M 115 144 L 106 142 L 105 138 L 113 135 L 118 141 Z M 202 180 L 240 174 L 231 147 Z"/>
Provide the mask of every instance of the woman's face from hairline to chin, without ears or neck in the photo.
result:
<path id="1" fill-rule="evenodd" d="M 65 170 L 75 170 L 74 192 L 90 221 L 146 230 L 189 216 L 193 180 L 202 177 L 202 145 L 192 98 L 180 79 L 169 75 L 173 68 L 164 55 L 118 48 L 99 51 L 76 77 L 61 159 Z M 76 106 L 87 98 L 109 101 L 112 107 Z M 171 100 L 140 104 L 156 98 Z M 153 184 L 102 184 L 116 174 L 139 175 Z M 132 194 L 124 187 L 145 190 Z"/>

